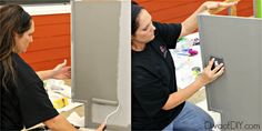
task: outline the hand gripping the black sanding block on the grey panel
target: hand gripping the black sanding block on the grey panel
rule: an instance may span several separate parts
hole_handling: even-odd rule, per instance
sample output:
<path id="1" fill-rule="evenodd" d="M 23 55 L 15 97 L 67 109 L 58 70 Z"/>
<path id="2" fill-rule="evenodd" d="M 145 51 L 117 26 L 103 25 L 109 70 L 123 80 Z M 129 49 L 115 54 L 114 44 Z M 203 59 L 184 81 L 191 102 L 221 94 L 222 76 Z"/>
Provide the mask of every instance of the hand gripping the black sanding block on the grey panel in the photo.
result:
<path id="1" fill-rule="evenodd" d="M 215 79 L 218 79 L 220 75 L 224 72 L 223 63 L 220 63 L 216 66 L 213 70 L 211 70 L 212 66 L 214 63 L 214 59 L 209 61 L 209 64 L 204 68 L 203 72 L 196 78 L 196 81 L 199 81 L 202 85 L 205 85 Z"/>

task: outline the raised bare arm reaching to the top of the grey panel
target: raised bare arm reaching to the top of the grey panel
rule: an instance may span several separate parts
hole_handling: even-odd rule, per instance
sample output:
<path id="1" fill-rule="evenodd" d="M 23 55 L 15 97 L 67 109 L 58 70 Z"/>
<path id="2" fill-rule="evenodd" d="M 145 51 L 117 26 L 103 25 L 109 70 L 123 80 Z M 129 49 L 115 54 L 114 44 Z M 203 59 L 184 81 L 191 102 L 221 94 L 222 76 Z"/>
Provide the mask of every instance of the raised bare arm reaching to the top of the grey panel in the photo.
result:
<path id="1" fill-rule="evenodd" d="M 216 1 L 206 1 L 199 7 L 188 19 L 182 22 L 182 30 L 180 37 L 192 33 L 198 28 L 198 18 L 199 13 L 218 13 L 226 8 L 235 6 L 238 2 L 216 2 Z"/>

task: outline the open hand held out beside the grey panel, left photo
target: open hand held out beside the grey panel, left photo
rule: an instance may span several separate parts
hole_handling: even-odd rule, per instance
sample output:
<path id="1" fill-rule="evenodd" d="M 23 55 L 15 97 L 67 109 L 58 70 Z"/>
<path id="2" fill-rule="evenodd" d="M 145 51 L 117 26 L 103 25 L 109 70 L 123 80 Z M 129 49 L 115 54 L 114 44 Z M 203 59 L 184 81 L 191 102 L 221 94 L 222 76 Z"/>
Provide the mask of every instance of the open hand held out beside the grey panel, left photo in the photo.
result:
<path id="1" fill-rule="evenodd" d="M 58 64 L 52 71 L 53 71 L 53 79 L 70 79 L 71 78 L 71 67 L 66 67 L 67 60 L 63 61 L 63 63 Z"/>

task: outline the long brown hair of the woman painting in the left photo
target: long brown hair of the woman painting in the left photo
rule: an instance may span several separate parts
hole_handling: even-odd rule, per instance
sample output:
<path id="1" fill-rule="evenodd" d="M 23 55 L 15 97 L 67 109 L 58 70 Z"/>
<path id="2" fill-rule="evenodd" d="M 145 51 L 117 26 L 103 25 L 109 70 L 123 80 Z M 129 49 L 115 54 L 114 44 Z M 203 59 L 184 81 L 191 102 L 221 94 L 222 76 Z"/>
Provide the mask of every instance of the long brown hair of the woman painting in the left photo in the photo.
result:
<path id="1" fill-rule="evenodd" d="M 1 88 L 8 82 L 16 82 L 12 53 L 16 47 L 14 36 L 23 36 L 31 28 L 31 16 L 18 4 L 0 8 L 0 67 L 2 68 Z"/>

